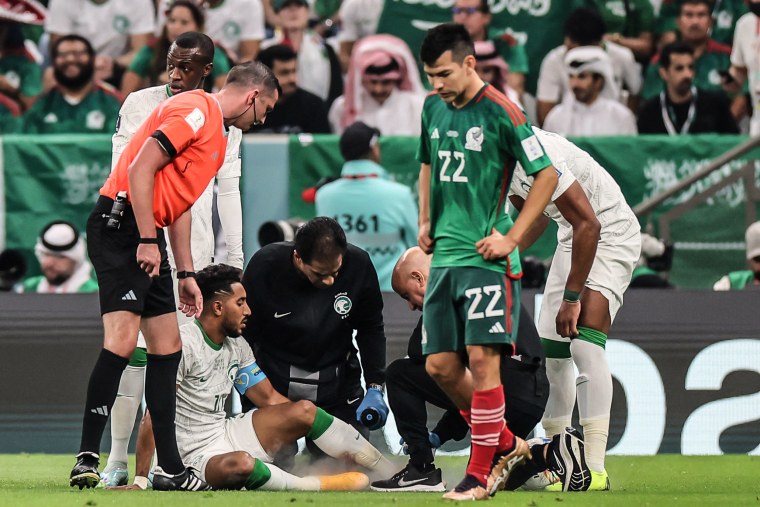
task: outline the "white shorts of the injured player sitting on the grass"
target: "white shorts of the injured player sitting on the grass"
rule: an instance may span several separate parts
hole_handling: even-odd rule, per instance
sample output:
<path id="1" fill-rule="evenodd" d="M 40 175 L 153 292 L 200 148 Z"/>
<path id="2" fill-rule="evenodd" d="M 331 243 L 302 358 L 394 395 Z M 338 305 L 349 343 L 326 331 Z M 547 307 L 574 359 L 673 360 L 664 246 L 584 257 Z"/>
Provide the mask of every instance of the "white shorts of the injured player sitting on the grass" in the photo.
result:
<path id="1" fill-rule="evenodd" d="M 251 418 L 255 410 L 250 410 L 224 421 L 224 434 L 211 440 L 202 448 L 182 456 L 185 466 L 193 468 L 201 479 L 206 480 L 206 465 L 211 458 L 221 454 L 235 451 L 245 451 L 256 459 L 265 463 L 272 463 L 274 459 L 267 454 L 256 436 Z M 181 446 L 180 446 L 181 448 Z"/>

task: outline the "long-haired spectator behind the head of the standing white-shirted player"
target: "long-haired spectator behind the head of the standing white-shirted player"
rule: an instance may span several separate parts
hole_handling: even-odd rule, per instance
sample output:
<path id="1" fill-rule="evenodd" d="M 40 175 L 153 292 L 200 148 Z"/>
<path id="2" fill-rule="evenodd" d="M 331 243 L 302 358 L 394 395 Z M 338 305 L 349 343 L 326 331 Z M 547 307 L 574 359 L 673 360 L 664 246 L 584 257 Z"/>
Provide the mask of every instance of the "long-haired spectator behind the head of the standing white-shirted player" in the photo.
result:
<path id="1" fill-rule="evenodd" d="M 169 47 L 183 33 L 203 31 L 203 11 L 195 2 L 190 0 L 172 2 L 166 13 L 166 22 L 161 29 L 160 37 L 143 46 L 124 73 L 124 79 L 121 82 L 122 94 L 127 96 L 141 88 L 169 83 L 166 67 Z M 216 49 L 213 70 L 208 82 L 204 82 L 206 91 L 224 86 L 224 80 L 227 79 L 229 71 L 230 62 L 227 56 L 221 49 Z"/>

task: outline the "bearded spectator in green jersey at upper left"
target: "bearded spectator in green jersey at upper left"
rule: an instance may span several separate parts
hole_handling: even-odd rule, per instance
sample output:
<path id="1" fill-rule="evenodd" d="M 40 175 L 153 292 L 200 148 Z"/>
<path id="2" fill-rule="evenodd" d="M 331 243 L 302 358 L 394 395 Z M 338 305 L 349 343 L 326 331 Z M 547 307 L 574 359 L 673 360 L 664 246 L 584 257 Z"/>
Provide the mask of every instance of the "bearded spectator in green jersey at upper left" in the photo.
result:
<path id="1" fill-rule="evenodd" d="M 56 39 L 50 54 L 56 87 L 41 95 L 21 119 L 25 134 L 111 133 L 121 95 L 95 79 L 95 52 L 79 35 Z"/>

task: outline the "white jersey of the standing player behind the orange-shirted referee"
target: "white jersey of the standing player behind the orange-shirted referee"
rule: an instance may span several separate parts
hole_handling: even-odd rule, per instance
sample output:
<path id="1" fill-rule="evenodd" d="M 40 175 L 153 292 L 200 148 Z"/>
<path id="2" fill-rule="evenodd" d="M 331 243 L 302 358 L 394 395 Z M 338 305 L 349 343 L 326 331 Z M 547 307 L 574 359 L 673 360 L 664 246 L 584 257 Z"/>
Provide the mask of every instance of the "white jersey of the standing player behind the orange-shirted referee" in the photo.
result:
<path id="1" fill-rule="evenodd" d="M 116 133 L 112 139 L 111 169 L 116 166 L 124 148 L 134 136 L 140 125 L 150 116 L 158 105 L 168 99 L 168 86 L 160 85 L 145 88 L 130 93 L 119 110 L 119 119 L 116 124 Z M 240 143 L 243 133 L 236 127 L 229 128 L 227 137 L 227 151 L 224 154 L 217 179 L 240 178 Z M 211 180 L 206 190 L 191 208 L 192 231 L 190 233 L 190 249 L 193 254 L 193 267 L 196 271 L 211 264 L 214 258 L 214 229 L 211 222 L 214 200 L 214 180 Z M 242 217 L 241 217 L 242 220 Z M 176 270 L 174 255 L 167 241 L 167 253 L 172 269 Z"/>

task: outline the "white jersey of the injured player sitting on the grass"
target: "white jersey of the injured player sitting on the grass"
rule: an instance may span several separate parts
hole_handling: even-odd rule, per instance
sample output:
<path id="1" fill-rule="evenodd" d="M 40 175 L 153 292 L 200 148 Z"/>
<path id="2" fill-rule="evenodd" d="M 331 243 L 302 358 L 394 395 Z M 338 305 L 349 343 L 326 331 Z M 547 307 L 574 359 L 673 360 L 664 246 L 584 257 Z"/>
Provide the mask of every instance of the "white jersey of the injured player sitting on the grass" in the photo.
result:
<path id="1" fill-rule="evenodd" d="M 212 342 L 198 321 L 180 327 L 182 359 L 177 369 L 177 446 L 180 455 L 202 449 L 224 435 L 224 404 L 238 370 L 256 362 L 243 338 Z"/>

